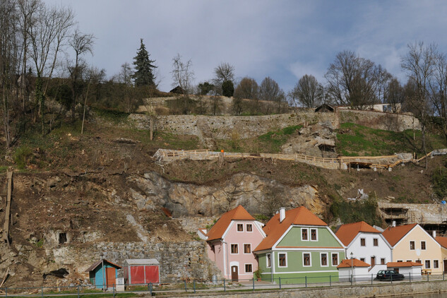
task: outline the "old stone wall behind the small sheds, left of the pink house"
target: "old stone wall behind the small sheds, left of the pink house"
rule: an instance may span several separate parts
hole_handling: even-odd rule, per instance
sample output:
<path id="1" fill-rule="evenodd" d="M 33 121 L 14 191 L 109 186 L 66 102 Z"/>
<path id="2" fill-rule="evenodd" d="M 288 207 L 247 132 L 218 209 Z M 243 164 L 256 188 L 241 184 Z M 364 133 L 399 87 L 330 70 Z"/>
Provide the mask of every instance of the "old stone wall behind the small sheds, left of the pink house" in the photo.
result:
<path id="1" fill-rule="evenodd" d="M 220 270 L 210 261 L 206 244 L 191 242 L 97 242 L 95 244 L 68 245 L 50 249 L 47 254 L 63 266 L 71 266 L 80 275 L 88 278 L 85 270 L 95 261 L 104 258 L 124 266 L 126 258 L 155 258 L 160 262 L 160 280 L 211 280 L 213 275 L 221 278 Z"/>

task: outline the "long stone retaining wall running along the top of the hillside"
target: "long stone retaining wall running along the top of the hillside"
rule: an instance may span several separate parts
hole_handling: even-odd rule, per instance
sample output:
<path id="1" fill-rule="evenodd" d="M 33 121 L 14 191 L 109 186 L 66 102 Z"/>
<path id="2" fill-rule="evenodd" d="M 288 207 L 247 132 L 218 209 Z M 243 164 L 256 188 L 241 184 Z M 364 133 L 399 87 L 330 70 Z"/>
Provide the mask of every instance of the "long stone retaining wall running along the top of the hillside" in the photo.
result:
<path id="1" fill-rule="evenodd" d="M 148 115 L 131 114 L 129 119 L 133 120 L 138 129 L 150 127 Z M 300 109 L 294 114 L 266 116 L 169 115 L 158 116 L 154 122 L 155 129 L 160 131 L 193 135 L 201 139 L 251 138 L 287 126 L 303 124 L 325 124 L 335 129 L 339 123 L 344 122 L 389 131 L 403 131 L 412 129 L 413 126 L 420 129 L 419 121 L 410 115 L 347 109 L 340 109 L 336 113 L 316 113 L 312 109 Z"/>

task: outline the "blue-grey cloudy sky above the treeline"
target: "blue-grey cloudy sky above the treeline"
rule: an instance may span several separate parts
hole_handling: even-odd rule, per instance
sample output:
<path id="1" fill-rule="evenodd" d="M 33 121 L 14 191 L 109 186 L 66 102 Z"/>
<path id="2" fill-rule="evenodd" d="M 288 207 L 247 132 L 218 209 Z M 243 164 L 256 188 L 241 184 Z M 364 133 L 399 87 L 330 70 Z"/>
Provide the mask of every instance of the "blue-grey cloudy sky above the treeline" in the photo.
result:
<path id="1" fill-rule="evenodd" d="M 108 77 L 131 64 L 143 38 L 159 89 L 172 89 L 172 59 L 192 61 L 194 83 L 222 62 L 237 79 L 270 76 L 286 93 L 305 74 L 324 74 L 343 50 L 381 64 L 405 83 L 407 45 L 437 44 L 447 54 L 447 1 L 424 0 L 43 0 L 70 6 L 78 28 L 95 35 L 93 56 Z"/>

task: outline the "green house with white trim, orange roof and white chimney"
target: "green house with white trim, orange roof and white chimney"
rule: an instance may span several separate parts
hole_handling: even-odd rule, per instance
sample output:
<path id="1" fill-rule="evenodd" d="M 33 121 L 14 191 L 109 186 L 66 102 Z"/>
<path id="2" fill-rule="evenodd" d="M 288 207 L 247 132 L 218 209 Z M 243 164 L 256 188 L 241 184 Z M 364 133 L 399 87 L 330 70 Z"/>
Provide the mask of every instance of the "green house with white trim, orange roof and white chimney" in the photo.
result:
<path id="1" fill-rule="evenodd" d="M 305 207 L 285 210 L 263 227 L 256 247 L 261 279 L 284 284 L 338 281 L 345 249 L 326 222 Z"/>

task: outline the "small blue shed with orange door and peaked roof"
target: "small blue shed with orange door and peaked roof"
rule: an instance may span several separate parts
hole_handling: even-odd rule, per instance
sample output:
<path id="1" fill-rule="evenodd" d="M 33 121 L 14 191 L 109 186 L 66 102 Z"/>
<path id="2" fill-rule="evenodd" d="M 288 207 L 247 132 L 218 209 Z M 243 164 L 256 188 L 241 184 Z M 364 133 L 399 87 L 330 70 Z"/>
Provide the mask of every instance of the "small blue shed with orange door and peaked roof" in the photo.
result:
<path id="1" fill-rule="evenodd" d="M 105 268 L 105 270 L 103 270 Z M 90 282 L 95 285 L 98 289 L 104 289 L 107 287 L 113 287 L 117 285 L 118 271 L 121 266 L 102 259 L 94 263 L 90 268 L 85 270 L 88 272 Z"/>

